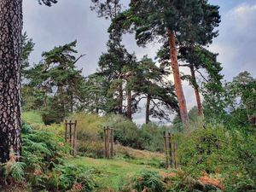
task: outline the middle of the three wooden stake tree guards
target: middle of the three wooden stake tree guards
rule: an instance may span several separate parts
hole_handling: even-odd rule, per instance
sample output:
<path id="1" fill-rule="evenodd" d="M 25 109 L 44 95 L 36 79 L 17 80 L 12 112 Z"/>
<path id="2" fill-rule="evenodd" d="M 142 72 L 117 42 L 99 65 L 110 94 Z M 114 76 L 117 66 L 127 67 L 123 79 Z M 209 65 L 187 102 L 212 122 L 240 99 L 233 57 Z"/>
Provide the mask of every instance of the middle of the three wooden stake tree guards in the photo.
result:
<path id="1" fill-rule="evenodd" d="M 113 128 L 104 126 L 105 158 L 113 158 Z"/>

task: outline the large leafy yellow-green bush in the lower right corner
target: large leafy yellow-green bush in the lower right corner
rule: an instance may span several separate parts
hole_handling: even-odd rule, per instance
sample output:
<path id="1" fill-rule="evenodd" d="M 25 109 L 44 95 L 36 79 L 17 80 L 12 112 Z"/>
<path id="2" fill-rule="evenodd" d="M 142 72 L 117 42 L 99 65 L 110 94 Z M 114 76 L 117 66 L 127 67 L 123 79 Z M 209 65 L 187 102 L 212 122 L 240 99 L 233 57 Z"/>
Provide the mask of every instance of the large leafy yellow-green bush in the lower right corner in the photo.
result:
<path id="1" fill-rule="evenodd" d="M 220 126 L 207 127 L 180 140 L 178 160 L 183 170 L 193 177 L 201 177 L 202 172 L 219 174 L 227 191 L 239 191 L 246 181 L 254 186 L 255 132 L 247 135 Z"/>

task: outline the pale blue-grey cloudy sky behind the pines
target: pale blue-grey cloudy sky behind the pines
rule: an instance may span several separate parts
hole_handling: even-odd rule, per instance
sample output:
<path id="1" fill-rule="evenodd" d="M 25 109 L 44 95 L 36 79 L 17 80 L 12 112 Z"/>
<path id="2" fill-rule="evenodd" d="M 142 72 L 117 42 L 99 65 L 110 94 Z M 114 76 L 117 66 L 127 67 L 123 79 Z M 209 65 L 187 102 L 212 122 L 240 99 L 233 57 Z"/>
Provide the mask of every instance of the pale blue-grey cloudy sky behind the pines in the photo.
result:
<path id="1" fill-rule="evenodd" d="M 126 4 L 129 0 L 123 0 Z M 220 6 L 222 15 L 218 27 L 219 36 L 210 46 L 219 53 L 218 61 L 223 64 L 226 80 L 231 80 L 242 71 L 249 71 L 256 77 L 256 0 L 209 0 Z M 98 18 L 90 11 L 90 0 L 59 0 L 52 7 L 38 5 L 37 0 L 24 1 L 24 31 L 36 43 L 31 62 L 41 60 L 45 50 L 78 40 L 79 54 L 86 54 L 78 63 L 84 75 L 94 73 L 99 56 L 106 50 L 108 41 L 108 20 Z M 125 36 L 124 44 L 137 57 L 155 56 L 158 44 L 146 49 L 138 48 L 134 38 Z M 184 88 L 188 108 L 195 105 L 193 90 Z M 143 122 L 143 114 L 137 115 L 137 122 Z"/>

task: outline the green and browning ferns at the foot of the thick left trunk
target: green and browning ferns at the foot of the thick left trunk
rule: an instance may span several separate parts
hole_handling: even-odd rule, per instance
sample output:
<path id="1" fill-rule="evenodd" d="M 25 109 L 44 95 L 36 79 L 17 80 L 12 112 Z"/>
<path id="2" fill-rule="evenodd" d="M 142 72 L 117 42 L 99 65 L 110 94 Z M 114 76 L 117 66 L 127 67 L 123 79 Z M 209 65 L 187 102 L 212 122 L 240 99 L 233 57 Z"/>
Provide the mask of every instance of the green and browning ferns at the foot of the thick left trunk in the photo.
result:
<path id="1" fill-rule="evenodd" d="M 65 163 L 70 148 L 53 129 L 34 130 L 31 125 L 22 125 L 21 135 L 21 162 L 11 154 L 2 165 L 8 183 L 24 181 L 34 191 L 92 191 L 95 182 L 91 171 Z"/>

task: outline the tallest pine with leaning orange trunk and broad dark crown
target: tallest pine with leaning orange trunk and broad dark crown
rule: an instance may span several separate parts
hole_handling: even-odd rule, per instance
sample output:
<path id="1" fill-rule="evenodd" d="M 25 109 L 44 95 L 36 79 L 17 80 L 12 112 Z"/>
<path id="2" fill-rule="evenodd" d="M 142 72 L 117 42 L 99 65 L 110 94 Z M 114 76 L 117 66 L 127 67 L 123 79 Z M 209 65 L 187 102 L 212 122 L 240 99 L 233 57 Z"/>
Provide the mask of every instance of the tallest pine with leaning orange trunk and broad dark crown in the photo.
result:
<path id="1" fill-rule="evenodd" d="M 218 6 L 207 1 L 133 0 L 130 9 L 114 20 L 110 30 L 121 25 L 128 32 L 136 32 L 139 45 L 154 39 L 159 42 L 168 40 L 180 116 L 183 125 L 187 125 L 188 112 L 177 62 L 177 45 L 184 41 L 200 45 L 212 43 L 212 38 L 218 35 L 213 30 L 219 22 Z"/>

